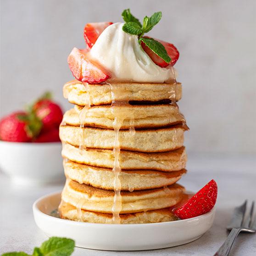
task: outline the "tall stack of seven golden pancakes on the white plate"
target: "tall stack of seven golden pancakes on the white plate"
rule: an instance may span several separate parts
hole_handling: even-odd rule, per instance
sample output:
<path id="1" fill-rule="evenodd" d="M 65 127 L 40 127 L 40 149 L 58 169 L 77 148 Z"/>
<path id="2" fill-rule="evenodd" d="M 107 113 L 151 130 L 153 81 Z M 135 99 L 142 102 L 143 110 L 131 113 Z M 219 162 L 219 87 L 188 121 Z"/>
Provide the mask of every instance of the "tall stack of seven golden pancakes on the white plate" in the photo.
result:
<path id="1" fill-rule="evenodd" d="M 63 93 L 74 108 L 64 114 L 60 127 L 67 177 L 60 216 L 113 223 L 118 178 L 119 223 L 176 220 L 172 208 L 184 199 L 184 187 L 176 182 L 186 173 L 187 160 L 183 146 L 187 126 L 176 104 L 181 84 L 85 86 L 74 80 L 64 85 Z M 117 117 L 122 117 L 118 130 L 114 129 Z M 118 159 L 113 152 L 115 138 Z M 117 162 L 118 175 L 114 172 Z"/>

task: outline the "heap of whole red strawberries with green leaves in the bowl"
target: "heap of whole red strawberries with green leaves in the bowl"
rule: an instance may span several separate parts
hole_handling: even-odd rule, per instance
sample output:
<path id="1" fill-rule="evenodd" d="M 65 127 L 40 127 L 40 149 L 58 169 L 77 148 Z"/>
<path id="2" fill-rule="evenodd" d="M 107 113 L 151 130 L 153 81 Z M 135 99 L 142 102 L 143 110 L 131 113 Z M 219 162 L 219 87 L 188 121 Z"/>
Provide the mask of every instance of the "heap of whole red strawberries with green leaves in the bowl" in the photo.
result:
<path id="1" fill-rule="evenodd" d="M 49 92 L 27 107 L 0 120 L 0 139 L 12 142 L 57 142 L 62 110 Z"/>

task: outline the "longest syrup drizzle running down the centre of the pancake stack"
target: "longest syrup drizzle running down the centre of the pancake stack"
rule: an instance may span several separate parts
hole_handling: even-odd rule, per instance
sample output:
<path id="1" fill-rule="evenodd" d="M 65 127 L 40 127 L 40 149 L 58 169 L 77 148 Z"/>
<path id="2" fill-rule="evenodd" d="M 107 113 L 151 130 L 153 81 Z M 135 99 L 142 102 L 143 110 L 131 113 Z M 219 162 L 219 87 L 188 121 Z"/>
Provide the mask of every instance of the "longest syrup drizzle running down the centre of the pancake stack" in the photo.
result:
<path id="1" fill-rule="evenodd" d="M 129 127 L 129 134 L 134 135 L 135 129 L 134 129 L 134 116 L 132 111 L 122 111 L 122 106 L 128 106 L 128 101 L 118 101 L 117 99 L 120 99 L 122 96 L 122 90 L 118 88 L 115 84 L 110 84 L 111 88 L 111 98 L 112 98 L 112 104 L 111 104 L 111 111 L 114 115 L 114 121 L 113 121 L 113 129 L 115 131 L 115 139 L 114 139 L 114 145 L 113 145 L 113 155 L 114 155 L 114 165 L 112 172 L 115 174 L 114 177 L 114 183 L 113 183 L 113 189 L 114 189 L 114 201 L 112 206 L 112 222 L 114 224 L 120 224 L 120 212 L 122 211 L 122 196 L 121 196 L 121 181 L 119 178 L 119 174 L 121 173 L 121 167 L 119 163 L 119 155 L 120 155 L 120 143 L 119 143 L 119 130 L 122 127 L 122 123 L 125 119 L 130 119 L 130 127 Z"/>

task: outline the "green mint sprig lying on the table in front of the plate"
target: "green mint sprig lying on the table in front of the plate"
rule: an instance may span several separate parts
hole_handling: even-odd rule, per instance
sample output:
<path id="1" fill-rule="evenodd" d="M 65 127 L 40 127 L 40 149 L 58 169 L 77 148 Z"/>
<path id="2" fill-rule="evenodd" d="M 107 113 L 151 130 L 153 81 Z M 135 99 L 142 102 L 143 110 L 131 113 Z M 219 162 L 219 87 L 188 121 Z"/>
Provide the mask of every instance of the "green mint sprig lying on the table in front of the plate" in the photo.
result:
<path id="1" fill-rule="evenodd" d="M 72 239 L 51 237 L 40 247 L 35 247 L 32 256 L 70 256 L 74 250 L 75 242 Z M 25 252 L 7 252 L 1 256 L 30 256 Z"/>

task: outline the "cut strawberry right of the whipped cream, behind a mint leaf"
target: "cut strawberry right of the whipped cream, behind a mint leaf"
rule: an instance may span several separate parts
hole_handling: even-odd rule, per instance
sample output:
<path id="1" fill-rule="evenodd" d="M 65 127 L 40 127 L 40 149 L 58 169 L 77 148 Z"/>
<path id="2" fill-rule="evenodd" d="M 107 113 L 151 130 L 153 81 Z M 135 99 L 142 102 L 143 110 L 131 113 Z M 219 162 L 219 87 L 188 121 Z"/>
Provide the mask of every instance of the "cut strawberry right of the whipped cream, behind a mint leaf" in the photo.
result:
<path id="1" fill-rule="evenodd" d="M 146 37 L 145 38 L 149 38 Z M 141 42 L 141 46 L 143 48 L 143 50 L 145 50 L 145 52 L 147 53 L 148 56 L 150 56 L 150 59 L 152 61 L 154 61 L 154 63 L 160 67 L 167 67 L 167 66 L 173 66 L 176 61 L 178 61 L 178 57 L 179 57 L 179 52 L 177 50 L 177 48 L 172 45 L 169 44 L 167 42 L 161 41 L 159 39 L 155 39 L 156 41 L 160 42 L 164 47 L 165 50 L 167 50 L 167 54 L 171 57 L 171 62 L 167 63 L 165 62 L 162 58 L 160 58 L 156 53 L 154 53 L 148 46 L 145 45 L 145 43 Z"/>

